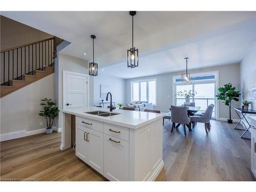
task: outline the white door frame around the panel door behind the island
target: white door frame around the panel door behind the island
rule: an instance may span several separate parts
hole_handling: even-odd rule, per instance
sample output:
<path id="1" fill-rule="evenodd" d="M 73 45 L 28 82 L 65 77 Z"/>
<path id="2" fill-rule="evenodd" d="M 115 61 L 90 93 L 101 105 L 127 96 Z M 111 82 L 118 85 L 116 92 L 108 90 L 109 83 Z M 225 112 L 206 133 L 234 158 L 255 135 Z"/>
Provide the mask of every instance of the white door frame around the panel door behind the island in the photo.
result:
<path id="1" fill-rule="evenodd" d="M 83 74 L 83 73 L 76 73 L 76 72 L 71 72 L 71 71 L 62 71 L 62 109 L 66 109 L 66 75 L 78 75 L 78 76 L 83 76 L 87 77 L 87 107 L 89 106 L 89 100 L 90 100 L 90 92 L 89 92 L 89 86 L 90 86 L 90 80 L 89 80 L 89 75 Z"/>

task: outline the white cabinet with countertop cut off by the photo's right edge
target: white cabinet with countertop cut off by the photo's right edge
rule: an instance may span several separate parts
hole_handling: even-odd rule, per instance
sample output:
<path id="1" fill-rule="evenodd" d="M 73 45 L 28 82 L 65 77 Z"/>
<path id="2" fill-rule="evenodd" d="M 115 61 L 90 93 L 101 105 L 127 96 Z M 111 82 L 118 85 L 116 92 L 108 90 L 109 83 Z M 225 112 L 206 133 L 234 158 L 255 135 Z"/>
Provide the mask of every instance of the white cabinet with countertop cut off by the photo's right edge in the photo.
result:
<path id="1" fill-rule="evenodd" d="M 251 132 L 251 172 L 256 177 L 256 116 L 249 116 L 252 128 Z M 254 128 L 254 129 L 253 129 Z"/>

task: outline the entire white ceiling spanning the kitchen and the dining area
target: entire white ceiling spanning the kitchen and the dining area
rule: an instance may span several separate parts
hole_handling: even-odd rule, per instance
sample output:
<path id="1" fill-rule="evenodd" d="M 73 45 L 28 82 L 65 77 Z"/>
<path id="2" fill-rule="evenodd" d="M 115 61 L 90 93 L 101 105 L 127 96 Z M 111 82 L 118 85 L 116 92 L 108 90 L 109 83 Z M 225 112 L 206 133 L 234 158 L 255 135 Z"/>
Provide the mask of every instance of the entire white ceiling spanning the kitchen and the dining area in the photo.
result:
<path id="1" fill-rule="evenodd" d="M 71 44 L 61 53 L 92 59 L 106 75 L 133 78 L 185 69 L 239 62 L 255 41 L 256 12 L 159 12 L 139 11 L 134 17 L 135 47 L 139 68 L 127 69 L 131 47 L 131 16 L 128 11 L 4 11 L 2 15 Z M 84 55 L 83 53 L 87 53 Z"/>

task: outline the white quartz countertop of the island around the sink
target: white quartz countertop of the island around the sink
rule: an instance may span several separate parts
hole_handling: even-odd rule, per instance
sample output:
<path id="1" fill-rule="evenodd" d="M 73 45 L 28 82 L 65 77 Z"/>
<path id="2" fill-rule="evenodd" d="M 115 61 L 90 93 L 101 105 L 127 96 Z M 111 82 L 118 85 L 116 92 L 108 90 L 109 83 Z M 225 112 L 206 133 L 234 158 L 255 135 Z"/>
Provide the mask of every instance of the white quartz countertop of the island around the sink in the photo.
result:
<path id="1" fill-rule="evenodd" d="M 148 123 L 154 122 L 158 119 L 163 118 L 165 113 L 148 113 L 140 111 L 128 111 L 128 110 L 113 110 L 113 113 L 119 113 L 118 115 L 113 115 L 109 117 L 102 117 L 98 115 L 88 114 L 86 112 L 92 111 L 103 111 L 110 112 L 108 108 L 97 108 L 97 107 L 88 107 L 88 108 L 76 108 L 76 109 L 65 109 L 60 110 L 63 113 L 68 113 L 80 117 L 86 117 L 89 119 L 94 119 L 106 123 L 116 124 L 119 126 L 129 127 L 131 129 L 138 129 L 139 127 L 146 125 Z"/>

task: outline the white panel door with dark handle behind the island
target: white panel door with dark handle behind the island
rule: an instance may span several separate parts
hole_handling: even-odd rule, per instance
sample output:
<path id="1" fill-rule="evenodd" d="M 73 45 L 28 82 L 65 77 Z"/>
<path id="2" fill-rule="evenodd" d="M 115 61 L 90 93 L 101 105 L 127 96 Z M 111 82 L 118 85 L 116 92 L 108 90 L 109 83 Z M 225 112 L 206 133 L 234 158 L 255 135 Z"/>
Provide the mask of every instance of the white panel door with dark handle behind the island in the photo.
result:
<path id="1" fill-rule="evenodd" d="M 87 77 L 66 74 L 66 109 L 87 106 Z"/>

